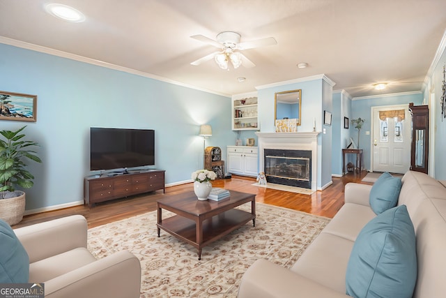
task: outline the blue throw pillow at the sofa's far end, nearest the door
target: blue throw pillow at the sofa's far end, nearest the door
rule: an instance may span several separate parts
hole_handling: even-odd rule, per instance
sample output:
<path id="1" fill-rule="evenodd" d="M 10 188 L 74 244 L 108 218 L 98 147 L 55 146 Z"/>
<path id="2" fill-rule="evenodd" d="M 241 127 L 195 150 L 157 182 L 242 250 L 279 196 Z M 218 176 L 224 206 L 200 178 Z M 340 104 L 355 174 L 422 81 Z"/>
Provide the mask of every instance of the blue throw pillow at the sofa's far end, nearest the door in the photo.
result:
<path id="1" fill-rule="evenodd" d="M 401 179 L 392 177 L 385 172 L 376 180 L 371 187 L 369 203 L 376 215 L 398 204 L 399 191 L 401 191 Z"/>

